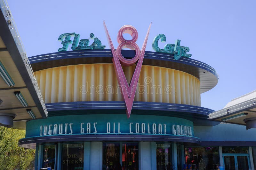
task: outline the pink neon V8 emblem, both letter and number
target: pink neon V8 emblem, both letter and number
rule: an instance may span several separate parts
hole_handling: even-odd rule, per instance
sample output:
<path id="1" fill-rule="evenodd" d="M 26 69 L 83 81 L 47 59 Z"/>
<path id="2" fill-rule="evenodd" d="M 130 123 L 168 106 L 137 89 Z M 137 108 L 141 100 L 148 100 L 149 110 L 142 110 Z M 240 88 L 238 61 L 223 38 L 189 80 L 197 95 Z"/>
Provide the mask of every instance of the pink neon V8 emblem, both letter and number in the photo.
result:
<path id="1" fill-rule="evenodd" d="M 122 26 L 120 28 L 120 30 L 118 31 L 117 42 L 119 45 L 117 46 L 117 49 L 115 50 L 115 47 L 113 46 L 113 43 L 112 43 L 111 38 L 108 33 L 108 29 L 104 22 L 104 27 L 105 27 L 107 38 L 108 38 L 108 44 L 111 47 L 111 51 L 113 54 L 112 61 L 113 61 L 114 67 L 115 67 L 118 83 L 121 86 L 121 92 L 122 92 L 124 102 L 126 105 L 126 115 L 128 118 L 130 117 L 131 111 L 132 111 L 132 104 L 134 101 L 135 92 L 136 92 L 139 77 L 140 77 L 140 70 L 141 70 L 141 66 L 142 66 L 142 62 L 143 62 L 143 58 L 144 58 L 144 54 L 145 54 L 145 49 L 146 49 L 146 45 L 147 45 L 147 41 L 148 41 L 148 34 L 149 34 L 150 26 L 151 26 L 151 24 L 148 27 L 148 32 L 146 34 L 146 38 L 142 45 L 141 51 L 140 51 L 140 47 L 135 43 L 138 39 L 137 30 L 131 25 Z M 123 37 L 124 33 L 130 34 L 132 36 L 132 39 L 131 40 L 125 39 Z M 135 56 L 132 59 L 124 58 L 124 56 L 121 54 L 121 49 L 123 47 L 135 50 Z M 137 62 L 137 65 L 133 72 L 130 84 L 128 85 L 128 82 L 124 75 L 122 65 L 123 66 L 132 66 L 136 62 Z"/>

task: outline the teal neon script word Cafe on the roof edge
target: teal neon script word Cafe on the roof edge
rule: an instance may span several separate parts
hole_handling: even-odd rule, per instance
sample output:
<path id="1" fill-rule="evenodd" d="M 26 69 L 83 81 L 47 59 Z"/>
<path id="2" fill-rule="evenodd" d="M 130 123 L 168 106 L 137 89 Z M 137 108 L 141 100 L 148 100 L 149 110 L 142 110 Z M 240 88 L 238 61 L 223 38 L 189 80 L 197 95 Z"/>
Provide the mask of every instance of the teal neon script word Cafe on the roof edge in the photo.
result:
<path id="1" fill-rule="evenodd" d="M 152 43 L 152 47 L 156 52 L 167 53 L 174 55 L 175 60 L 180 60 L 181 57 L 191 57 L 191 54 L 187 54 L 189 52 L 189 48 L 185 46 L 180 46 L 180 40 L 177 39 L 175 44 L 166 44 L 164 49 L 159 48 L 158 41 L 161 42 L 166 41 L 166 37 L 164 34 L 159 34 L 155 37 Z"/>

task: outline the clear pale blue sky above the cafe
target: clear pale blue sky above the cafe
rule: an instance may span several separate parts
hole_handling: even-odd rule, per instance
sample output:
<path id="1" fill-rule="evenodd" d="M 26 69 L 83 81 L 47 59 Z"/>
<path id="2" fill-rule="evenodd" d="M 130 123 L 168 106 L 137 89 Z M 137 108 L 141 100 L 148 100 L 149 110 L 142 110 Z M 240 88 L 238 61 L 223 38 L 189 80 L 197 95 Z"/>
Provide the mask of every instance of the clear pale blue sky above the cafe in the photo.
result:
<path id="1" fill-rule="evenodd" d="M 142 46 L 152 22 L 146 50 L 154 37 L 165 34 L 167 42 L 180 39 L 192 58 L 215 68 L 218 84 L 201 94 L 202 107 L 222 109 L 231 99 L 256 89 L 255 0 L 248 1 L 35 1 L 7 0 L 28 56 L 57 52 L 58 37 L 90 33 L 109 49 L 103 27 L 117 47 L 116 35 L 123 25 L 133 25 Z M 165 44 L 163 44 L 164 46 Z"/>

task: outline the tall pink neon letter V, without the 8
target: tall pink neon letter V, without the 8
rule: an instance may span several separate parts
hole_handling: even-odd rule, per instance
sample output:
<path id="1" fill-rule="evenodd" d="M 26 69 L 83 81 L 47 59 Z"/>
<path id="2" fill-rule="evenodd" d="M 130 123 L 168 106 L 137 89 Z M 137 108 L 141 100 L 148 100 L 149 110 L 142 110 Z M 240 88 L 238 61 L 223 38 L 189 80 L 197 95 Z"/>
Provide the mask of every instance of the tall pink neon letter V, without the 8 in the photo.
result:
<path id="1" fill-rule="evenodd" d="M 106 34 L 107 34 L 107 37 L 108 37 L 108 44 L 111 47 L 111 51 L 112 51 L 112 54 L 113 54 L 112 61 L 113 61 L 114 68 L 115 68 L 115 71 L 116 71 L 117 80 L 118 80 L 119 85 L 121 86 L 122 96 L 124 98 L 124 102 L 125 102 L 125 105 L 126 105 L 126 115 L 129 118 L 130 115 L 131 115 L 132 104 L 133 104 L 133 101 L 134 101 L 135 92 L 136 92 L 139 77 L 140 77 L 140 70 L 141 70 L 141 67 L 142 67 L 143 59 L 144 59 L 144 54 L 145 54 L 145 49 L 146 49 L 146 45 L 147 45 L 147 41 L 148 41 L 148 34 L 149 34 L 151 24 L 148 27 L 148 32 L 146 34 L 146 38 L 145 38 L 143 46 L 141 48 L 140 57 L 139 57 L 139 60 L 137 62 L 137 65 L 135 67 L 135 70 L 133 72 L 132 79 L 131 79 L 131 82 L 130 82 L 129 85 L 128 85 L 128 82 L 127 82 L 126 77 L 124 75 L 124 71 L 123 71 L 121 63 L 119 61 L 119 58 L 117 56 L 115 47 L 113 46 L 113 43 L 112 43 L 111 38 L 109 36 L 108 29 L 105 25 L 105 21 L 103 22 L 103 24 L 104 24 L 105 31 L 106 31 Z"/>

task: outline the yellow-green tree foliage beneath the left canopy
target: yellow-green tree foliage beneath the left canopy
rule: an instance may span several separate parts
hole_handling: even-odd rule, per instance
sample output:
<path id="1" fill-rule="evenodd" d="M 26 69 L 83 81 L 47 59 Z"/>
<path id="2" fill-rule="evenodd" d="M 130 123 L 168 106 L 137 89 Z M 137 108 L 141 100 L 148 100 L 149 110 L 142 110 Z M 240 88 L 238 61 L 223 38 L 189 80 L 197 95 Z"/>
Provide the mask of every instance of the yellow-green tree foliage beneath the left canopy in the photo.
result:
<path id="1" fill-rule="evenodd" d="M 31 169 L 35 159 L 34 149 L 18 146 L 20 138 L 25 137 L 25 131 L 0 126 L 0 169 Z"/>

